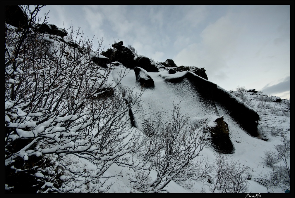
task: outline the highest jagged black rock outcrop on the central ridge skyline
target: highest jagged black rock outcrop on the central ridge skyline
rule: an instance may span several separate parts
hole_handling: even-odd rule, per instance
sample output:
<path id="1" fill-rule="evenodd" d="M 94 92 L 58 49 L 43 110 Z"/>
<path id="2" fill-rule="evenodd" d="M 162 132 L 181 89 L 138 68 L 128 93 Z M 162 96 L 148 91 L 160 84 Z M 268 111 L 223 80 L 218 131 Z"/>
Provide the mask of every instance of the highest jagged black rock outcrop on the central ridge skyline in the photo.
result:
<path id="1" fill-rule="evenodd" d="M 154 64 L 151 64 L 148 57 L 137 56 L 137 54 L 129 48 L 123 46 L 123 41 L 112 44 L 112 47 L 114 47 L 114 50 L 108 49 L 101 52 L 101 55 L 106 56 L 112 62 L 118 61 L 129 69 L 141 67 L 148 72 L 159 72 L 159 69 Z"/>

